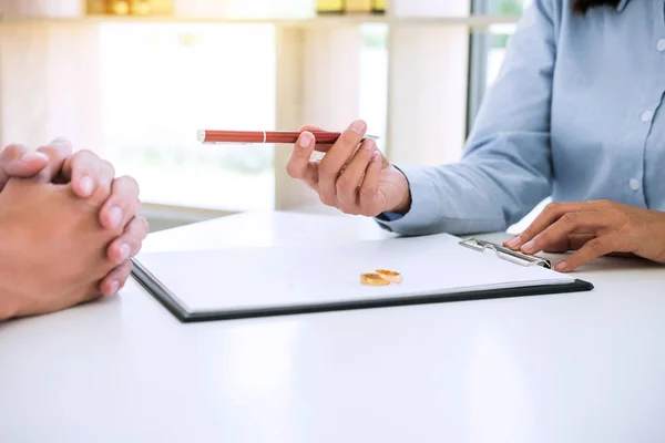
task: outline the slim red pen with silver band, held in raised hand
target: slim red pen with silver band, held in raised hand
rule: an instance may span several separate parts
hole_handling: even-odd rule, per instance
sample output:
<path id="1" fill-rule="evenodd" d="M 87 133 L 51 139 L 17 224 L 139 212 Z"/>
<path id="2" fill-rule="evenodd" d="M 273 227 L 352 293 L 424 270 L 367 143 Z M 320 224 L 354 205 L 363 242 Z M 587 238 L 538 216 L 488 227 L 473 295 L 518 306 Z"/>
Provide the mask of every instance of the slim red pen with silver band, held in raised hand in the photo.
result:
<path id="1" fill-rule="evenodd" d="M 332 144 L 341 135 L 340 132 L 310 131 L 317 143 Z M 198 130 L 196 140 L 204 144 L 255 144 L 255 143 L 296 143 L 301 132 L 298 131 L 208 131 Z M 365 138 L 377 140 L 376 135 Z"/>

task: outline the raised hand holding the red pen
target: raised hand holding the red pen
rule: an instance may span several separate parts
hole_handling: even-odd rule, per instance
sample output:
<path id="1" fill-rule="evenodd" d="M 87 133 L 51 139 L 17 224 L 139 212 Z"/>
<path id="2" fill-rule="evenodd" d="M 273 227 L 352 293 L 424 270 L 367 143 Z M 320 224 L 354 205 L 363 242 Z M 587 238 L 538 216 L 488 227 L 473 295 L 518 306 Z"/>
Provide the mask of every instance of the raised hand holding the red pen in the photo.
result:
<path id="1" fill-rule="evenodd" d="M 368 217 L 409 210 L 407 178 L 383 157 L 374 140 L 364 140 L 367 131 L 364 121 L 351 123 L 331 146 L 316 143 L 311 131 L 323 128 L 305 125 L 300 131 L 286 171 L 291 178 L 311 187 L 321 203 L 345 214 Z M 313 161 L 315 150 L 326 155 Z"/>

